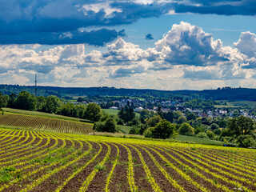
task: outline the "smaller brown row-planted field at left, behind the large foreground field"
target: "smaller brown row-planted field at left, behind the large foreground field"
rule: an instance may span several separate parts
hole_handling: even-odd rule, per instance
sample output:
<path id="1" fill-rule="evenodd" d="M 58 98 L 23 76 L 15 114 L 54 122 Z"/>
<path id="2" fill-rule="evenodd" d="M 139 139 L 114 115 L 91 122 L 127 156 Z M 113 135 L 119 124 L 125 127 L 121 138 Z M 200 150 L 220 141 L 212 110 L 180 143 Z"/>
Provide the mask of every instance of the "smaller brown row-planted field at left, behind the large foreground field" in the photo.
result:
<path id="1" fill-rule="evenodd" d="M 42 130 L 63 134 L 88 134 L 92 132 L 93 128 L 93 124 L 85 122 L 9 113 L 0 115 L 0 126 L 22 128 L 26 130 Z"/>

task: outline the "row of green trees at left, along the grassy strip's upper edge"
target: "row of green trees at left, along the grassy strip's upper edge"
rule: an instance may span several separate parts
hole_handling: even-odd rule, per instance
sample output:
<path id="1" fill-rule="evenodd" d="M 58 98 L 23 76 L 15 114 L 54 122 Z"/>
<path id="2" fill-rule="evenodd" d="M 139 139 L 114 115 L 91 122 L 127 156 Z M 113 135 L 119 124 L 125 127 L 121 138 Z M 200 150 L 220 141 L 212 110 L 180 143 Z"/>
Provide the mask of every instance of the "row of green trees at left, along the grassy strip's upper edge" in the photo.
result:
<path id="1" fill-rule="evenodd" d="M 27 91 L 21 91 L 18 95 L 3 95 L 0 93 L 0 108 L 10 107 L 19 110 L 37 110 L 50 114 L 61 114 L 64 116 L 87 119 L 97 122 L 102 117 L 101 107 L 95 103 L 85 105 L 74 105 L 64 103 L 57 96 L 47 97 L 31 95 Z"/>

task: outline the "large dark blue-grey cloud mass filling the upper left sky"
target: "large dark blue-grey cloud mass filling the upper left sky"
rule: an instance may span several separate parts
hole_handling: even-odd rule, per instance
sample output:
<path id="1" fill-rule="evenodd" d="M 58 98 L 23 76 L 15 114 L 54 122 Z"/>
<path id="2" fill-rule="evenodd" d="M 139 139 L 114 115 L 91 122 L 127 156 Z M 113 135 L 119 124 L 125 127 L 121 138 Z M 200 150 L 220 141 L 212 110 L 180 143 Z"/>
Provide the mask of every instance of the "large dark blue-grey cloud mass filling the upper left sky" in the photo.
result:
<path id="1" fill-rule="evenodd" d="M 121 30 L 117 34 L 114 30 L 104 29 L 81 33 L 78 29 L 132 23 L 139 18 L 160 16 L 167 11 L 166 7 L 159 4 L 138 5 L 135 2 L 1 1 L 0 44 L 86 42 L 102 46 L 118 36 L 125 37 L 125 31 Z M 59 38 L 64 33 L 71 33 L 72 38 Z"/>

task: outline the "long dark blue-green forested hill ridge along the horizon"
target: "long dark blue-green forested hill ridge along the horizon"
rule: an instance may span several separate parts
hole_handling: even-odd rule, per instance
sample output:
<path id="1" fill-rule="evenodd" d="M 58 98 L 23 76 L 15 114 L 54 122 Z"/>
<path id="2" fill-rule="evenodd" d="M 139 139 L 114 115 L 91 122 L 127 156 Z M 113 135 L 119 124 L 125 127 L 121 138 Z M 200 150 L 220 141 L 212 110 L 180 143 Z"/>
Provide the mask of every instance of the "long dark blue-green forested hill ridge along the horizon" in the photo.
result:
<path id="1" fill-rule="evenodd" d="M 2 94 L 18 94 L 26 90 L 34 94 L 34 86 L 0 85 Z M 114 87 L 58 87 L 38 86 L 38 95 L 86 96 L 86 95 L 109 95 L 109 96 L 137 96 L 141 98 L 202 98 L 212 100 L 247 100 L 256 101 L 256 89 L 223 87 L 217 90 L 150 90 L 150 89 L 125 89 Z"/>

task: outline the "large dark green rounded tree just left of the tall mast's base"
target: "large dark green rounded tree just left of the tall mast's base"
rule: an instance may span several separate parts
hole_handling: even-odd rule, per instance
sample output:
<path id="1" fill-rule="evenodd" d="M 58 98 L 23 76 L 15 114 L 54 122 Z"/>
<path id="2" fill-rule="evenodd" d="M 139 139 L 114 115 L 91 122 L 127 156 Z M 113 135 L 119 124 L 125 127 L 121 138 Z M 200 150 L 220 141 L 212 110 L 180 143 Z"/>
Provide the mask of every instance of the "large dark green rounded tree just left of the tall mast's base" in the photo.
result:
<path id="1" fill-rule="evenodd" d="M 15 100 L 15 107 L 20 110 L 36 110 L 37 99 L 27 91 L 22 91 L 18 94 Z"/>

